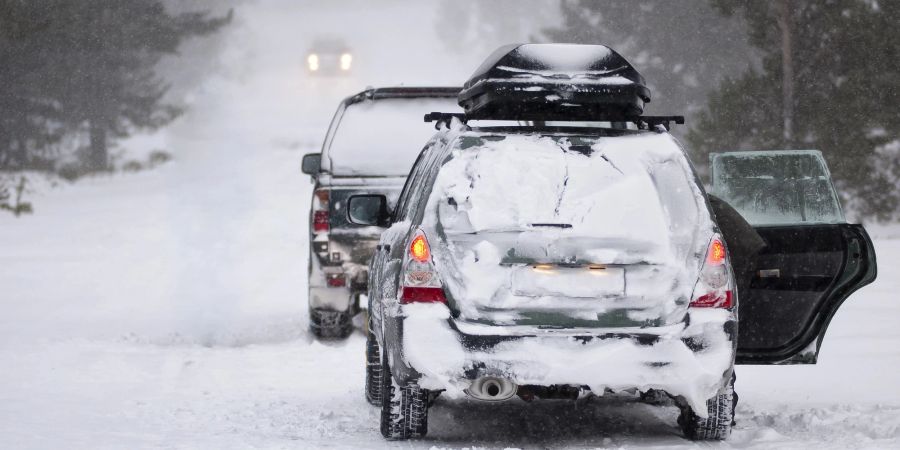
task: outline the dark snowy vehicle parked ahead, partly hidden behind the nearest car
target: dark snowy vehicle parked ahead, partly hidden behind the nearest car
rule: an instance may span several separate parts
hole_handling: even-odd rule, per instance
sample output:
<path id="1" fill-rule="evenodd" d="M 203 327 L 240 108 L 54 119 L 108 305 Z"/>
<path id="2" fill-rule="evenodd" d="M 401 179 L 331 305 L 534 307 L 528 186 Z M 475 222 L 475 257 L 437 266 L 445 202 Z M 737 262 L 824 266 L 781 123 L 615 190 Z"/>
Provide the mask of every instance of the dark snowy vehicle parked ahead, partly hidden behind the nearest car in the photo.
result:
<path id="1" fill-rule="evenodd" d="M 393 207 L 421 143 L 434 133 L 422 120 L 459 111 L 459 88 L 388 87 L 346 98 L 331 121 L 321 153 L 303 157 L 315 182 L 309 214 L 309 319 L 318 337 L 345 337 L 366 292 L 367 265 L 381 229 L 347 220 L 347 198 L 384 195 Z"/>

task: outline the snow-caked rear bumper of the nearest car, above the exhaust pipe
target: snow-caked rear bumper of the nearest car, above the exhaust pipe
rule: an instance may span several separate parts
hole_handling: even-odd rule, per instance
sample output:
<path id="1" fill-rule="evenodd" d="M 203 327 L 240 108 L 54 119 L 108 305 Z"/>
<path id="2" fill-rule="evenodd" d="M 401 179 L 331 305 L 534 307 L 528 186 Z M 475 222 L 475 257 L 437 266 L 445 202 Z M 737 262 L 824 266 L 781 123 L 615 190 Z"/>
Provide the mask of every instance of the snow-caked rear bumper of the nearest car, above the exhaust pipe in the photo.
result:
<path id="1" fill-rule="evenodd" d="M 690 324 L 658 329 L 522 333 L 456 323 L 440 304 L 401 308 L 389 338 L 402 343 L 389 348 L 397 381 L 450 396 L 490 375 L 518 385 L 587 386 L 598 395 L 656 389 L 705 410 L 734 362 L 735 317 L 727 310 L 692 312 Z"/>

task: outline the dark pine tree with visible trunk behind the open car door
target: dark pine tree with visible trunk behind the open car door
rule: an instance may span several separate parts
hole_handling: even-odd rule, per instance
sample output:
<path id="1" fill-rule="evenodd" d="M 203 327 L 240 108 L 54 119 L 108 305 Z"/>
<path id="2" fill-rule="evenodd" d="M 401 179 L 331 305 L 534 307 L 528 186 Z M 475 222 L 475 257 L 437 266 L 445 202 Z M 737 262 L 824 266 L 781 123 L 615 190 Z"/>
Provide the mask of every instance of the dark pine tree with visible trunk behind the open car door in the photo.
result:
<path id="1" fill-rule="evenodd" d="M 822 150 L 845 203 L 900 214 L 900 2 L 714 0 L 762 66 L 723 81 L 688 135 L 713 151 Z"/>

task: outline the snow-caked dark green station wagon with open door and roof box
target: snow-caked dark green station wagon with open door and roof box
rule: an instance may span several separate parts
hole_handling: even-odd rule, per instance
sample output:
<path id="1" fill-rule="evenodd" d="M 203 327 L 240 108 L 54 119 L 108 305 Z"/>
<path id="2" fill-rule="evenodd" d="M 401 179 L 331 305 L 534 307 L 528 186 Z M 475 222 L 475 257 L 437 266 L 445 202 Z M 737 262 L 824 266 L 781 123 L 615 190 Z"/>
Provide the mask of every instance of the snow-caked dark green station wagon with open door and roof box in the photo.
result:
<path id="1" fill-rule="evenodd" d="M 559 70 L 535 57 L 547 50 L 586 65 L 552 46 L 513 49 L 528 58 L 495 65 L 547 87 Z M 522 75 L 530 70 L 542 76 Z M 485 84 L 470 80 L 460 99 Z M 522 93 L 536 90 L 509 88 L 512 109 L 499 95 L 474 103 L 485 115 L 467 115 L 522 115 L 515 106 L 531 95 Z M 735 361 L 815 363 L 838 306 L 876 273 L 871 240 L 845 222 L 821 154 L 714 156 L 713 191 L 765 243 L 738 292 L 732 236 L 666 127 L 629 115 L 634 101 L 598 112 L 610 122 L 593 127 L 567 126 L 570 106 L 540 102 L 529 117 L 562 122 L 448 120 L 395 207 L 378 193 L 347 199 L 350 222 L 385 229 L 369 273 L 365 386 L 385 437 L 424 436 L 442 392 L 483 401 L 656 392 L 674 399 L 688 438 L 725 439 Z"/>

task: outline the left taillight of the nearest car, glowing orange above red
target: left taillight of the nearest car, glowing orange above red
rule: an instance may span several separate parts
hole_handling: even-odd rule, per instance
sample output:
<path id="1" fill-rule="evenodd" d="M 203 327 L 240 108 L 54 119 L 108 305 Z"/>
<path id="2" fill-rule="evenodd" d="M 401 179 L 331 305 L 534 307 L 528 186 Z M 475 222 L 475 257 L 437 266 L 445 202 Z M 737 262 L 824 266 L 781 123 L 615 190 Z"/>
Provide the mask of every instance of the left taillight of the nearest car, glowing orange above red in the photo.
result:
<path id="1" fill-rule="evenodd" d="M 425 233 L 417 231 L 404 258 L 400 303 L 447 303 L 444 286 L 434 270 Z"/>

